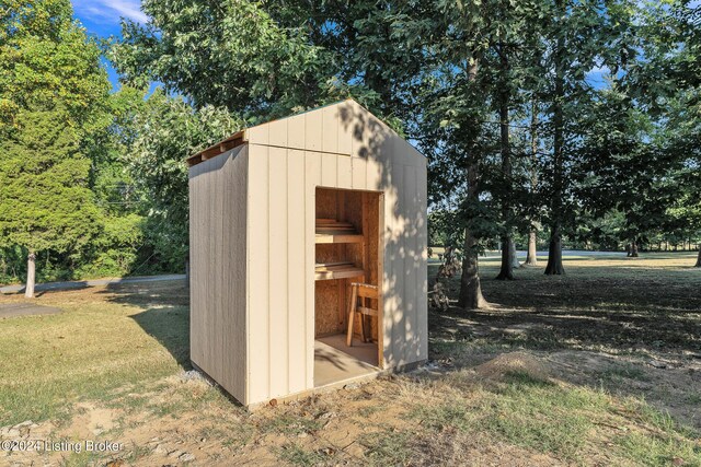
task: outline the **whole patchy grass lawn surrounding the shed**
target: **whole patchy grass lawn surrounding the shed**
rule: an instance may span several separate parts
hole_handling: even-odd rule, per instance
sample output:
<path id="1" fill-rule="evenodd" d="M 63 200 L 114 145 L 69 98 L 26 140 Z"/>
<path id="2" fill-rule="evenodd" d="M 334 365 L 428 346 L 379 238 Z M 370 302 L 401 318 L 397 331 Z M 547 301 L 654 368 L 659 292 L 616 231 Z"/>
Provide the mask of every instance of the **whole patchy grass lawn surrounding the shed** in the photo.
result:
<path id="1" fill-rule="evenodd" d="M 181 282 L 46 292 L 64 313 L 0 319 L 0 439 L 122 446 L 0 465 L 701 466 L 694 259 L 568 257 L 564 277 L 501 282 L 484 258 L 491 306 L 430 310 L 425 367 L 253 413 L 188 373 Z"/>

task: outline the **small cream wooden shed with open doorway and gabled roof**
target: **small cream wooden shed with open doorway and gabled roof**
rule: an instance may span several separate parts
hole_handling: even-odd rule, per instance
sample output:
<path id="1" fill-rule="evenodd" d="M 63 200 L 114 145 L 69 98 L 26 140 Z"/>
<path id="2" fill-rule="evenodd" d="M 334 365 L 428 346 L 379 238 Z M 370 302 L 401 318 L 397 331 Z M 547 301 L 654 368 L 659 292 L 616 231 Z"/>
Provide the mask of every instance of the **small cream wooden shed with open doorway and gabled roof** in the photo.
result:
<path id="1" fill-rule="evenodd" d="M 253 406 L 426 360 L 426 160 L 409 142 L 347 100 L 187 162 L 196 367 Z"/>

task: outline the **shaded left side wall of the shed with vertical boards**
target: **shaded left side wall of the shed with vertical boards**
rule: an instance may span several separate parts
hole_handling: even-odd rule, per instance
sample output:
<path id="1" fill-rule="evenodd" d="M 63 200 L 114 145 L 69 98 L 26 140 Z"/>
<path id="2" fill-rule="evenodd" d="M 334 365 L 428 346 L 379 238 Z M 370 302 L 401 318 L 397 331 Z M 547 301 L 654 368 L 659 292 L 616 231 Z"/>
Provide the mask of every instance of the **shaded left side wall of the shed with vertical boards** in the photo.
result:
<path id="1" fill-rule="evenodd" d="M 245 401 L 248 147 L 189 168 L 191 359 Z"/>

